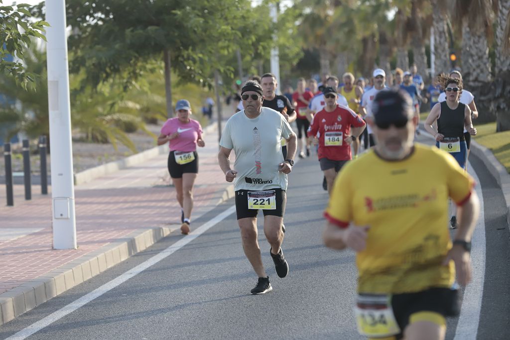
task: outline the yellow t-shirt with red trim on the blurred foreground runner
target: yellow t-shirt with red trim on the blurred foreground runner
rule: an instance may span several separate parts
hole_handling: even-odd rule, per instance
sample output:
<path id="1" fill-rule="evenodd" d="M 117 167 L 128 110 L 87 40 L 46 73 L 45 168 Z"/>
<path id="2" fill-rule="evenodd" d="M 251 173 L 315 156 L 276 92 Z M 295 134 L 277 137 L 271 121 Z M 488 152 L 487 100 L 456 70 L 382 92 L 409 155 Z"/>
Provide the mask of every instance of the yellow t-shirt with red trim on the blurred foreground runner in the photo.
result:
<path id="1" fill-rule="evenodd" d="M 402 161 L 385 161 L 373 150 L 339 173 L 325 216 L 339 227 L 370 226 L 366 250 L 356 253 L 358 292 L 399 294 L 451 287 L 453 261 L 442 266 L 452 243 L 450 196 L 458 205 L 474 180 L 436 147 L 415 144 Z"/>

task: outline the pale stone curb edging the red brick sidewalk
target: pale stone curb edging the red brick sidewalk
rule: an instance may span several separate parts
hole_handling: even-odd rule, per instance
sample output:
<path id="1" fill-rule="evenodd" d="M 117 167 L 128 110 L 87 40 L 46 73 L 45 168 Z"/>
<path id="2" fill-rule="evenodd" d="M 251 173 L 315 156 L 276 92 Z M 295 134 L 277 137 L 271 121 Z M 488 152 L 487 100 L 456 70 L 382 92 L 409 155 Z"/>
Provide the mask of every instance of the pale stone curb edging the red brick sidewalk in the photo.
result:
<path id="1" fill-rule="evenodd" d="M 225 188 L 217 205 L 233 198 L 234 185 Z M 138 229 L 95 251 L 0 294 L 0 325 L 121 263 L 179 229 L 179 225 Z"/>

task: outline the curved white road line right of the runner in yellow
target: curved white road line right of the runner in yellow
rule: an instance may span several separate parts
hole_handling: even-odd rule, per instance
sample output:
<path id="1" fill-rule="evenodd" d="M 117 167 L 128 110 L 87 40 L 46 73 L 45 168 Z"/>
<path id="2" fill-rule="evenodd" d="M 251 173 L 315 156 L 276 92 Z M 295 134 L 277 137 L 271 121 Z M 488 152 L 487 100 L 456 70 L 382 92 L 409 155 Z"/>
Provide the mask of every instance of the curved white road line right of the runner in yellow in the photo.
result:
<path id="1" fill-rule="evenodd" d="M 483 282 L 485 280 L 485 217 L 483 213 L 483 196 L 480 179 L 469 164 L 468 172 L 476 180 L 476 194 L 480 199 L 480 216 L 473 232 L 471 247 L 471 266 L 473 276 L 466 286 L 462 300 L 461 315 L 458 317 L 454 340 L 476 339 L 478 323 L 480 321 L 481 299 L 483 296 Z"/>

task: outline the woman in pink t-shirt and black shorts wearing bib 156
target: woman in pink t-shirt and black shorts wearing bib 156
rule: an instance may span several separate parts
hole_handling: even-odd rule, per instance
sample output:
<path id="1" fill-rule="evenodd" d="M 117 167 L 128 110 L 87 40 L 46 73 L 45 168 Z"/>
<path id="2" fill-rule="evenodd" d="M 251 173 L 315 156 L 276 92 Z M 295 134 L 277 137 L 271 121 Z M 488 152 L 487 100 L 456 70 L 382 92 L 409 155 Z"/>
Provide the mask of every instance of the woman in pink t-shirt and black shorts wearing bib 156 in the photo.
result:
<path id="1" fill-rule="evenodd" d="M 177 117 L 168 119 L 161 128 L 158 145 L 169 143 L 168 172 L 172 177 L 177 201 L 181 205 L 181 232 L 190 232 L 190 217 L 193 209 L 193 185 L 198 174 L 196 146 L 204 147 L 202 127 L 190 118 L 191 106 L 181 99 L 175 104 Z"/>

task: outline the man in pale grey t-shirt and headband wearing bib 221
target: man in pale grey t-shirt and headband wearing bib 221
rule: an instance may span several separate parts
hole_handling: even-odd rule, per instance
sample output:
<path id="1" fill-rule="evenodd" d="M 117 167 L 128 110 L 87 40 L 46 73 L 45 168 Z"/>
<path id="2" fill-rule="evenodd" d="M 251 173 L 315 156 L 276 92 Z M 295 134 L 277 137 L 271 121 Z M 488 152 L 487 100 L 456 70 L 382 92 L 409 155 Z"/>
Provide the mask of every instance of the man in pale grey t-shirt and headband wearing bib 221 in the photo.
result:
<path id="1" fill-rule="evenodd" d="M 264 294 L 272 290 L 269 277 L 262 264 L 257 241 L 257 214 L 264 212 L 264 233 L 271 245 L 271 257 L 276 274 L 286 277 L 289 266 L 281 245 L 285 214 L 287 174 L 292 171 L 296 153 L 296 134 L 287 119 L 277 111 L 262 107 L 262 87 L 247 81 L 241 89 L 244 110 L 226 122 L 221 135 L 218 162 L 228 182 L 234 182 L 236 191 L 237 222 L 241 229 L 244 253 L 259 276 L 251 294 Z M 287 159 L 284 160 L 280 141 L 287 141 Z M 234 169 L 230 166 L 230 153 L 234 150 Z"/>

